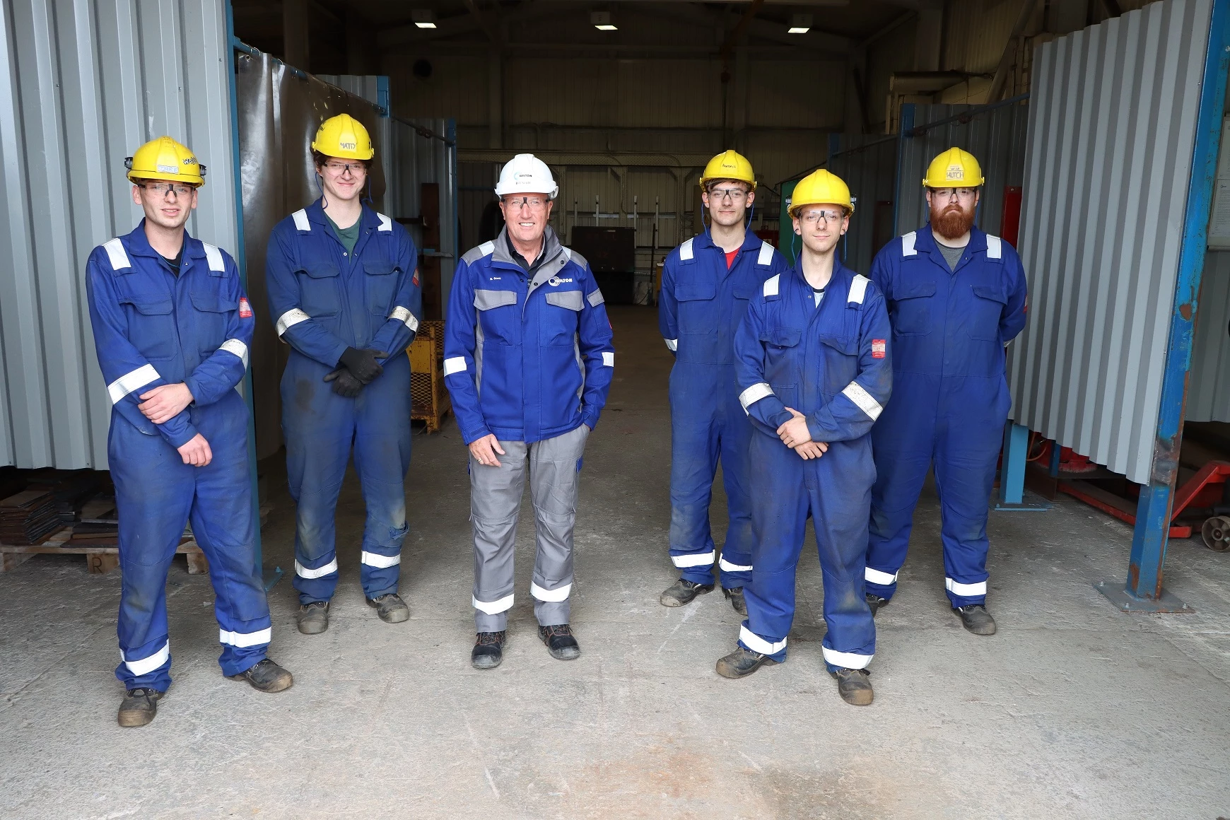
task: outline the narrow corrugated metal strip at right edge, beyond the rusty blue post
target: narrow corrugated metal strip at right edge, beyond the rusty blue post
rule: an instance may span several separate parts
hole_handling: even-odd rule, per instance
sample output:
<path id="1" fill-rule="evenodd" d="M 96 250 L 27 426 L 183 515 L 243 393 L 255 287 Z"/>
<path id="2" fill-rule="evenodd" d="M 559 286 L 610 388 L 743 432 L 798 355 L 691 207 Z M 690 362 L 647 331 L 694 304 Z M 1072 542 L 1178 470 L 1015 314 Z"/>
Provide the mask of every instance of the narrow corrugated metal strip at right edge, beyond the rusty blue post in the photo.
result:
<path id="1" fill-rule="evenodd" d="M 1230 150 L 1223 145 L 1221 151 Z M 1209 251 L 1187 377 L 1188 422 L 1230 422 L 1230 251 Z"/>

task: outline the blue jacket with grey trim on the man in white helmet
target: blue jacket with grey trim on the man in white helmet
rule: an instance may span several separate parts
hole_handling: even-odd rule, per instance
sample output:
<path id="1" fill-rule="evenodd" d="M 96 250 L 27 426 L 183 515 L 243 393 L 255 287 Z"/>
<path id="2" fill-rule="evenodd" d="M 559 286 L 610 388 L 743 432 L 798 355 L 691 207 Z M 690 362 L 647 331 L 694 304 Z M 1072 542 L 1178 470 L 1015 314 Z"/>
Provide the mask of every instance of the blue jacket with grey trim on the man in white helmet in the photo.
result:
<path id="1" fill-rule="evenodd" d="M 507 229 L 461 257 L 444 323 L 444 384 L 466 444 L 541 441 L 593 429 L 615 366 L 603 294 L 550 227 L 533 275 Z"/>

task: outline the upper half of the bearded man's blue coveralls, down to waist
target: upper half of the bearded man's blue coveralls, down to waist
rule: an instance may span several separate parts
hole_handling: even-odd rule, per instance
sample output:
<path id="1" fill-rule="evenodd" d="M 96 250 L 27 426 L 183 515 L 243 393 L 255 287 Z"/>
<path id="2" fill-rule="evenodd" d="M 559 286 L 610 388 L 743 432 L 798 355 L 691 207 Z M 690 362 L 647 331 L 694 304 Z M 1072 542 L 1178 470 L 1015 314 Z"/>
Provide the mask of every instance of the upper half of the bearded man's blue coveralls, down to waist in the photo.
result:
<path id="1" fill-rule="evenodd" d="M 897 373 L 1004 375 L 1004 347 L 1025 327 L 1026 307 L 1025 270 L 1011 245 L 974 227 L 952 269 L 924 225 L 881 248 L 871 280 L 888 302 Z"/>

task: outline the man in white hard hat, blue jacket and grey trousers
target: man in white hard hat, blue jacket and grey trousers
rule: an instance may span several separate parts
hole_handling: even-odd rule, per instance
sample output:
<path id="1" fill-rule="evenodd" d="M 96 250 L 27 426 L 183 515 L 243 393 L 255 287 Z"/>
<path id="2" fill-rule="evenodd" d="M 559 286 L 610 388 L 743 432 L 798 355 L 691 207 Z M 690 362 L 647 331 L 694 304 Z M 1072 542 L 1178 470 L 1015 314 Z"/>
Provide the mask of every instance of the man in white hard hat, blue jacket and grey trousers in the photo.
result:
<path id="1" fill-rule="evenodd" d="M 518 154 L 499 172 L 504 229 L 461 257 L 444 325 L 444 384 L 470 447 L 475 644 L 503 660 L 513 547 L 526 478 L 538 534 L 530 596 L 557 660 L 581 655 L 568 618 L 581 459 L 615 368 L 611 326 L 589 264 L 549 226 L 560 187 Z"/>

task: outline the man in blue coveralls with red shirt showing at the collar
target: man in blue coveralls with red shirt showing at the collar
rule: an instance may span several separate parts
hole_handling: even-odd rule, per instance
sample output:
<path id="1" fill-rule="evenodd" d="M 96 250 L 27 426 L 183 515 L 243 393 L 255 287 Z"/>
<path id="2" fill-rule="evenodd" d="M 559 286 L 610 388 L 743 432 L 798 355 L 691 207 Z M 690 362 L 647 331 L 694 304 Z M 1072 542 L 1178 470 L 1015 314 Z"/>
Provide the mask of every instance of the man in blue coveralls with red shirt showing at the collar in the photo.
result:
<path id="1" fill-rule="evenodd" d="M 752 500 L 748 443 L 752 424 L 734 381 L 734 331 L 748 299 L 787 269 L 768 242 L 748 230 L 755 202 L 752 164 L 718 154 L 700 178 L 708 230 L 672 251 L 662 266 L 658 326 L 675 354 L 670 370 L 670 562 L 679 580 L 663 606 L 684 606 L 713 590 L 716 546 L 708 524 L 717 461 L 722 460 L 728 524 L 717 562 L 722 593 L 740 615 L 752 578 Z"/>

